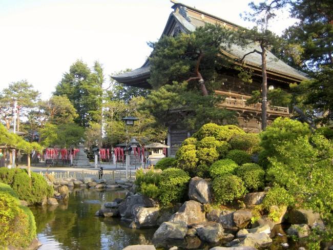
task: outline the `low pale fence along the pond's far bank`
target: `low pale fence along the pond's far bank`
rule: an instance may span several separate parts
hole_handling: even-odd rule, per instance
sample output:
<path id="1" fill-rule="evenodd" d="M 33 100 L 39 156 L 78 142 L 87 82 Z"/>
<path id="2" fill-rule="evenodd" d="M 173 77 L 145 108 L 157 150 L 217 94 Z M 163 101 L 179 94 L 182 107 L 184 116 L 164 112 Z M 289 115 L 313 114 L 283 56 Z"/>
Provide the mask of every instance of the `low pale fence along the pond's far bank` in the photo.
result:
<path id="1" fill-rule="evenodd" d="M 43 171 L 39 171 L 39 174 L 45 177 L 45 173 Z M 48 172 L 49 175 L 53 175 L 55 179 L 65 179 L 65 178 L 72 178 L 72 179 L 84 179 L 84 178 L 93 178 L 98 179 L 99 175 L 98 172 L 87 172 L 82 170 L 79 171 L 64 171 L 64 172 L 55 172 L 51 171 Z M 105 180 L 120 180 L 120 179 L 126 179 L 126 170 L 111 170 L 108 172 L 104 172 L 102 179 Z M 132 170 L 129 170 L 129 179 L 134 180 L 135 179 L 135 172 Z"/>

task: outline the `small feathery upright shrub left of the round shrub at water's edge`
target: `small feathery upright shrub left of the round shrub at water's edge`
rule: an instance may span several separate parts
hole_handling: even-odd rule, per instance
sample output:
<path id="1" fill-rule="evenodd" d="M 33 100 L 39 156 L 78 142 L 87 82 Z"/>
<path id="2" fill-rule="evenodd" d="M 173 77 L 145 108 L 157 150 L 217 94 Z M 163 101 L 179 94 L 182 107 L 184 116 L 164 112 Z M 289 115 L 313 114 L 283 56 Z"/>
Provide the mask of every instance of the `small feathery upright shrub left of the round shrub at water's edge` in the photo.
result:
<path id="1" fill-rule="evenodd" d="M 139 169 L 136 171 L 135 177 L 134 183 L 138 186 L 137 192 L 151 198 L 158 196 L 158 184 L 161 179 L 161 174 L 153 170 L 144 173 L 142 169 Z"/>

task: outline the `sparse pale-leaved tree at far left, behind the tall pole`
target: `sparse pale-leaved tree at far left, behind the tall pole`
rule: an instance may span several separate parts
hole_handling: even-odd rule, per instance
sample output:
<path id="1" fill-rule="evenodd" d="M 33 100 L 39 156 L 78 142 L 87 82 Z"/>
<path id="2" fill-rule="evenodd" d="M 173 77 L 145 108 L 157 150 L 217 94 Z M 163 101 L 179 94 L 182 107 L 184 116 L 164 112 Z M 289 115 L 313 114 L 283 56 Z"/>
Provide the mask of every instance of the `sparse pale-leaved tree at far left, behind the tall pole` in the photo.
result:
<path id="1" fill-rule="evenodd" d="M 17 107 L 17 131 L 19 131 L 20 118 L 27 116 L 29 110 L 36 106 L 40 93 L 33 89 L 27 80 L 12 82 L 8 88 L 0 92 L 0 115 L 4 120 L 7 129 L 13 121 L 12 108 L 13 98 L 18 99 Z"/>

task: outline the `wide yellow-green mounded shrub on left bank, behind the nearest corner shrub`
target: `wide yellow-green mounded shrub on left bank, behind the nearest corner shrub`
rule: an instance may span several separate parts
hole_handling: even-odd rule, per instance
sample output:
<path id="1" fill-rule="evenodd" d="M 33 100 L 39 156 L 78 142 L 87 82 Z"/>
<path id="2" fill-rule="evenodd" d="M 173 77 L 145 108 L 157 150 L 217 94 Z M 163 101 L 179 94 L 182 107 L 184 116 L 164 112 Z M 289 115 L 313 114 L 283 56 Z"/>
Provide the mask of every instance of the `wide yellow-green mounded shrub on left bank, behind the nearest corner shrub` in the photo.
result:
<path id="1" fill-rule="evenodd" d="M 48 185 L 43 176 L 32 172 L 30 178 L 26 170 L 0 169 L 0 181 L 9 184 L 20 200 L 33 204 L 41 202 L 44 197 L 53 196 L 53 187 Z"/>

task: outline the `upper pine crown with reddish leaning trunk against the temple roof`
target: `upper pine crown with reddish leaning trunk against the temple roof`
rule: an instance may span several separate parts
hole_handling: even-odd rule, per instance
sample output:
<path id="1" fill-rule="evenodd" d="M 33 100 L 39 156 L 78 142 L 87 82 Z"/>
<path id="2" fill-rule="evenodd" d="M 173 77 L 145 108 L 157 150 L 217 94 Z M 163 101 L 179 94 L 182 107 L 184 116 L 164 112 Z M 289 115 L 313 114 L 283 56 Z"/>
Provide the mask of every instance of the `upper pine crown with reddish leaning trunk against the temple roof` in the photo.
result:
<path id="1" fill-rule="evenodd" d="M 173 81 L 197 81 L 189 89 L 198 89 L 203 96 L 209 94 L 205 81 L 209 81 L 216 69 L 227 64 L 220 56 L 221 44 L 228 43 L 230 31 L 218 25 L 206 24 L 189 34 L 163 36 L 156 43 L 149 58 L 150 84 L 156 89 Z"/>

